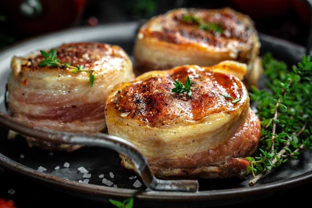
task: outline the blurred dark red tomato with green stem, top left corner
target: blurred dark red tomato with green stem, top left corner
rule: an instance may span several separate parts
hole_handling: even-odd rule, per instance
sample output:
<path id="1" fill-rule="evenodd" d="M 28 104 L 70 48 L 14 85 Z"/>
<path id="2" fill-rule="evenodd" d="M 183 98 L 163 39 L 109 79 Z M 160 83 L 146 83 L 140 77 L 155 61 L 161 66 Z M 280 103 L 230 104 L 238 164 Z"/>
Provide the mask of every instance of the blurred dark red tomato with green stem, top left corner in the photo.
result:
<path id="1" fill-rule="evenodd" d="M 37 11 L 37 15 L 27 16 L 36 3 L 41 10 Z M 85 0 L 11 0 L 0 4 L 16 30 L 36 35 L 73 26 L 84 11 Z"/>

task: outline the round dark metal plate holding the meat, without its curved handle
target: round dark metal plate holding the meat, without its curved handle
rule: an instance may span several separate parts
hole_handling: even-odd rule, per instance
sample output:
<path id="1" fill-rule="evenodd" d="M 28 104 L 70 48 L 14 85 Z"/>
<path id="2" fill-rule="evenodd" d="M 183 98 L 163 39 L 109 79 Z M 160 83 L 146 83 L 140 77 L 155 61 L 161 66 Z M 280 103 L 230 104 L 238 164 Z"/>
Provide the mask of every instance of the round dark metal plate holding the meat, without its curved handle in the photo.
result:
<path id="1" fill-rule="evenodd" d="M 17 43 L 0 52 L 0 111 L 4 106 L 5 84 L 10 72 L 12 56 L 24 56 L 31 51 L 76 41 L 97 41 L 121 46 L 132 53 L 138 22 L 96 27 L 73 28 Z M 273 56 L 293 65 L 299 62 L 305 48 L 260 34 L 261 54 L 271 51 Z M 8 129 L 0 127 L 0 165 L 58 191 L 94 201 L 108 202 L 120 197 L 137 195 L 136 206 L 152 207 L 208 207 L 235 204 L 266 197 L 312 181 L 311 152 L 303 158 L 283 165 L 270 173 L 256 186 L 249 187 L 248 179 L 237 178 L 199 180 L 197 192 L 150 191 L 133 172 L 120 166 L 118 153 L 100 147 L 81 148 L 75 152 L 49 152 L 29 148 L 22 137 L 7 140 Z M 64 167 L 65 164 L 65 167 Z M 67 164 L 67 165 L 66 165 Z M 85 175 L 78 168 L 84 167 Z M 41 169 L 44 171 L 41 172 Z M 113 184 L 104 184 L 103 177 Z M 88 183 L 83 183 L 88 179 Z M 136 182 L 136 181 L 139 182 Z M 79 182 L 80 181 L 80 182 Z M 134 184 L 141 183 L 141 186 Z M 117 186 L 114 188 L 114 185 Z"/>

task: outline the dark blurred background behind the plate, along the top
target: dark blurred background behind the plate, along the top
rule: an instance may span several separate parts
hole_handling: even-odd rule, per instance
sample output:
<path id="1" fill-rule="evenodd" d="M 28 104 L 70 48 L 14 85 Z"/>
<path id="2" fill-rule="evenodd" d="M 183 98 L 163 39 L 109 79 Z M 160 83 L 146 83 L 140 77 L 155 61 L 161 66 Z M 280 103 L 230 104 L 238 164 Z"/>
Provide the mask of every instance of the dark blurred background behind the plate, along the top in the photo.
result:
<path id="1" fill-rule="evenodd" d="M 69 27 L 148 19 L 177 7 L 232 7 L 265 34 L 306 46 L 310 10 L 305 0 L 0 0 L 0 48 Z"/>

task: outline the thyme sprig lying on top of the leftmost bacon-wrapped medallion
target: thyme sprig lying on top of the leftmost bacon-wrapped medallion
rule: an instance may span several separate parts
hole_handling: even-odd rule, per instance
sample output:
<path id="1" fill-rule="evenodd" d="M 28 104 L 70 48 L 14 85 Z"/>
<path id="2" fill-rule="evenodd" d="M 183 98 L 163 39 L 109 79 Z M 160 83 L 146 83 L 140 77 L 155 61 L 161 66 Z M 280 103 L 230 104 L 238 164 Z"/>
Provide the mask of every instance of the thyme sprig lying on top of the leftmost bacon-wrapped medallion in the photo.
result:
<path id="1" fill-rule="evenodd" d="M 72 73 L 78 73 L 80 71 L 87 71 L 89 72 L 89 85 L 90 87 L 93 86 L 95 76 L 93 74 L 94 70 L 84 70 L 84 65 L 79 65 L 77 64 L 77 67 L 71 65 L 71 61 L 68 63 L 62 62 L 60 63 L 60 60 L 57 59 L 57 49 L 51 49 L 48 52 L 40 50 L 41 55 L 45 58 L 41 60 L 41 62 L 38 64 L 38 66 L 61 66 L 61 67 L 66 67 L 66 68 L 71 68 L 69 72 Z"/>

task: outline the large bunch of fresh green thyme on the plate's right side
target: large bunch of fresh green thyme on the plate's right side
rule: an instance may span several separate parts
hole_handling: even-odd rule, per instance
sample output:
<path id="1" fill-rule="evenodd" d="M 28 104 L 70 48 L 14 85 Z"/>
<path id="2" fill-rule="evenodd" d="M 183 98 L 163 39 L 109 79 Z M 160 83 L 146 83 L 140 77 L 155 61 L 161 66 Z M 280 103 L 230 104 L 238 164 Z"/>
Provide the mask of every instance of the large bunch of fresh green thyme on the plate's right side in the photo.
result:
<path id="1" fill-rule="evenodd" d="M 250 161 L 246 171 L 254 176 L 250 186 L 272 168 L 312 149 L 312 57 L 303 56 L 290 71 L 284 62 L 267 53 L 262 65 L 268 89 L 252 87 L 249 94 L 261 122 L 258 157 L 246 157 Z M 258 171 L 261 173 L 256 175 Z"/>

